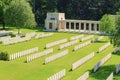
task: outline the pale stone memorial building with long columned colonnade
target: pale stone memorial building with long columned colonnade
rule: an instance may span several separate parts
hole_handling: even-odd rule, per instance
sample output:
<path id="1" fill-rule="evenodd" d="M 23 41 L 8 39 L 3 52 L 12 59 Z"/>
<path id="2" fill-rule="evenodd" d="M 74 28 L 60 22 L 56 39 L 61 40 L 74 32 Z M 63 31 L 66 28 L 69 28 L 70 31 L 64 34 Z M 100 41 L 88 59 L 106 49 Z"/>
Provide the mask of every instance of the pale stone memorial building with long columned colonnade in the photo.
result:
<path id="1" fill-rule="evenodd" d="M 99 33 L 99 21 L 65 19 L 64 13 L 47 13 L 44 31 Z"/>

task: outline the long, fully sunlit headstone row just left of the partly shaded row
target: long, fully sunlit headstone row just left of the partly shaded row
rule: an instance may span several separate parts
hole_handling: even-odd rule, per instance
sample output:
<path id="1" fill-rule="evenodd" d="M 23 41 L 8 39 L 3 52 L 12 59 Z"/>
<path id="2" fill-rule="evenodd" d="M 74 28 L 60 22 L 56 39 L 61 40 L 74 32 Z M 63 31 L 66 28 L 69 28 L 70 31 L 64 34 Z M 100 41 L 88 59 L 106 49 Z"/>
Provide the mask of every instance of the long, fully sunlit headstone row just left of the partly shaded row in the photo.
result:
<path id="1" fill-rule="evenodd" d="M 72 71 L 87 62 L 88 60 L 92 59 L 94 57 L 94 52 L 90 53 L 89 55 L 83 57 L 82 59 L 76 61 L 72 64 Z"/>

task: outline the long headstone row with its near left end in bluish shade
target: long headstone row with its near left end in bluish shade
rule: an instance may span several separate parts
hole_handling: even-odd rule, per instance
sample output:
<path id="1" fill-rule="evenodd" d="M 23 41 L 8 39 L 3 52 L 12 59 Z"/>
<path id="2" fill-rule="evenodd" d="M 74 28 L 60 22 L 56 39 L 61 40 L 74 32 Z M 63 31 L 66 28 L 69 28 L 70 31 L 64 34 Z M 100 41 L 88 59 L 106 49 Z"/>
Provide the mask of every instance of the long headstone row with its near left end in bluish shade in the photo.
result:
<path id="1" fill-rule="evenodd" d="M 101 61 L 99 61 L 93 69 L 93 72 L 96 72 L 103 64 L 105 64 L 110 58 L 111 58 L 111 53 L 105 56 Z"/>

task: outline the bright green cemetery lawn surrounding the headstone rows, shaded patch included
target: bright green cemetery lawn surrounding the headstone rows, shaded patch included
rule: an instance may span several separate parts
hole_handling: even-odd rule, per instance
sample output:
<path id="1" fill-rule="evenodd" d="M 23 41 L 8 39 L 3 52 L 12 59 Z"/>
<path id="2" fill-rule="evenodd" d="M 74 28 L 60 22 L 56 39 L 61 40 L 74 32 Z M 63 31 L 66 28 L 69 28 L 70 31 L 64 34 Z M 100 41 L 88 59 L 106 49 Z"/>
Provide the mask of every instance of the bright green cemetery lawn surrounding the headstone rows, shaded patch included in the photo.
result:
<path id="1" fill-rule="evenodd" d="M 13 31 L 17 32 L 17 29 L 13 29 Z M 40 30 L 21 29 L 21 32 L 24 34 L 28 32 L 40 33 Z M 41 52 L 45 50 L 44 48 L 46 43 L 54 42 L 56 40 L 64 38 L 69 39 L 70 37 L 75 35 L 80 34 L 54 32 L 54 36 L 43 39 L 33 38 L 28 42 L 22 42 L 8 46 L 3 46 L 0 43 L 0 51 L 7 51 L 9 54 L 13 54 L 33 47 L 39 47 L 38 52 Z M 85 34 L 85 36 L 89 35 Z M 97 36 L 98 35 L 95 35 L 95 37 Z M 0 61 L 0 80 L 47 80 L 48 77 L 62 69 L 66 69 L 67 71 L 66 76 L 62 80 L 76 80 L 86 71 L 90 71 L 90 80 L 105 80 L 109 76 L 109 74 L 115 70 L 116 65 L 119 64 L 120 53 L 117 53 L 116 55 L 112 54 L 112 58 L 107 63 L 105 63 L 105 65 L 103 65 L 96 73 L 93 73 L 92 69 L 98 61 L 100 61 L 103 57 L 113 51 L 114 47 L 111 45 L 100 54 L 97 53 L 98 48 L 103 46 L 108 41 L 109 38 L 104 37 L 104 39 L 102 39 L 102 41 L 100 42 L 91 43 L 89 46 L 73 52 L 72 50 L 75 45 L 83 43 L 79 42 L 78 44 L 65 48 L 69 49 L 69 54 L 46 65 L 43 64 L 46 57 L 61 52 L 65 49 L 58 50 L 59 45 L 54 46 L 54 52 L 52 54 L 33 60 L 30 63 L 24 63 L 27 56 L 12 61 Z M 92 58 L 76 70 L 71 71 L 71 65 L 74 62 L 90 54 L 93 51 L 95 52 L 94 58 Z M 120 80 L 120 74 L 114 75 L 114 80 Z"/>

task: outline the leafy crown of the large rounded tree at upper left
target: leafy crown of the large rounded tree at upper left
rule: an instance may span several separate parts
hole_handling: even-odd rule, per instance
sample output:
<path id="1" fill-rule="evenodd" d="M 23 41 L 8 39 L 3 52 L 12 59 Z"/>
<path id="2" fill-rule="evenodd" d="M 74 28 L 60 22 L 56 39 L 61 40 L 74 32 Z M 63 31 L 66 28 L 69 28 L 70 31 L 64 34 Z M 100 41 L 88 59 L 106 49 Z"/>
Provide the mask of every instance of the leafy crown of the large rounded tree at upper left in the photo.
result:
<path id="1" fill-rule="evenodd" d="M 13 0 L 5 11 L 5 23 L 8 26 L 34 27 L 34 14 L 29 3 L 25 0 Z"/>

